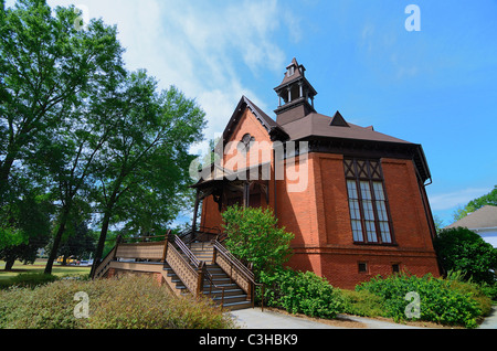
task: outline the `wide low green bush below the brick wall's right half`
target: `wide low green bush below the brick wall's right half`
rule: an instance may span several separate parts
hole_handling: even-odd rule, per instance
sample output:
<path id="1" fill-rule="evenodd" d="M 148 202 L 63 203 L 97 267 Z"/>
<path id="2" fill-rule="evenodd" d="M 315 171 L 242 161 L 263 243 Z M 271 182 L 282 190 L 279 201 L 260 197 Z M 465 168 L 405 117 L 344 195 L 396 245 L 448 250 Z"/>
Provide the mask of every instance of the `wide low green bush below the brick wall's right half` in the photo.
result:
<path id="1" fill-rule="evenodd" d="M 356 290 L 367 290 L 381 297 L 385 309 L 385 317 L 395 321 L 406 320 L 405 308 L 410 301 L 405 296 L 410 291 L 420 296 L 420 320 L 443 325 L 476 328 L 477 319 L 483 316 L 483 305 L 463 283 L 433 278 L 426 275 L 422 278 L 406 274 L 392 275 L 388 278 L 376 277 L 362 283 Z"/>

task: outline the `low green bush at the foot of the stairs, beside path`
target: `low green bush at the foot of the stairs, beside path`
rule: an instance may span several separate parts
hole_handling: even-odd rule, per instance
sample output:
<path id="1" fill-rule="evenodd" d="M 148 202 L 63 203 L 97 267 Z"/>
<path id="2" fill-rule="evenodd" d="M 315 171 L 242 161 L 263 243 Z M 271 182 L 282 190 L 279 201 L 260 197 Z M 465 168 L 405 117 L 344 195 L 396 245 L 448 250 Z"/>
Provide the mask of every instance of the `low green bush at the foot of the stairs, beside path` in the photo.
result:
<path id="1" fill-rule="evenodd" d="M 262 274 L 266 286 L 267 306 L 285 309 L 290 313 L 309 317 L 335 318 L 342 311 L 343 301 L 325 278 L 311 272 L 294 272 L 289 268 Z"/>

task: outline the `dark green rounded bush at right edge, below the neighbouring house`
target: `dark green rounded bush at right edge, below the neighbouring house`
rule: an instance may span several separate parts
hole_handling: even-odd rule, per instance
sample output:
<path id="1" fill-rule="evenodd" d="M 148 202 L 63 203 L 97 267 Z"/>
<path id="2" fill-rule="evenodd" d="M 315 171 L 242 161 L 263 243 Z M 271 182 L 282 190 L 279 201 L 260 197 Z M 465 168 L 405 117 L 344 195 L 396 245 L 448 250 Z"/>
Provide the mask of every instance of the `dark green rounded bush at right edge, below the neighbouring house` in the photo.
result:
<path id="1" fill-rule="evenodd" d="M 465 279 L 495 284 L 497 249 L 478 234 L 463 227 L 447 228 L 437 234 L 433 244 L 446 273 L 461 270 Z"/>

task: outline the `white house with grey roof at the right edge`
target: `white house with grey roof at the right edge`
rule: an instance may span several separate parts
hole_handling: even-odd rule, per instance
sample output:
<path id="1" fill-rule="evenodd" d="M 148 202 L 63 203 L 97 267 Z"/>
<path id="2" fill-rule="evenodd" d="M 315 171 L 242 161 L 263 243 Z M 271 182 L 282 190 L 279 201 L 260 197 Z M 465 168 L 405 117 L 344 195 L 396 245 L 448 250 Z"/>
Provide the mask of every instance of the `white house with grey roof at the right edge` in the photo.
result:
<path id="1" fill-rule="evenodd" d="M 458 226 L 479 234 L 485 242 L 497 248 L 497 206 L 483 206 L 446 227 Z"/>

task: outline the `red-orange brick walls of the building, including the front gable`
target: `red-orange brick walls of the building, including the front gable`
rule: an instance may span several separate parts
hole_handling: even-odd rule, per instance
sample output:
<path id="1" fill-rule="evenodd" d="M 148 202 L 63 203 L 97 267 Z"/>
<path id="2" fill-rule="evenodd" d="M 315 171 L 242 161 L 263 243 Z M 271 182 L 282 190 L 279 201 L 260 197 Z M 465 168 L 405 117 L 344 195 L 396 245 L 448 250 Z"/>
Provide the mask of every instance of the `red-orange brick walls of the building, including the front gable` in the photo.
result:
<path id="1" fill-rule="evenodd" d="M 255 136 L 257 141 L 267 140 L 266 131 L 261 128 L 261 124 L 246 110 L 232 140 L 240 140 L 246 132 Z M 305 161 L 308 167 L 306 189 L 290 192 L 288 187 L 292 182 L 276 181 L 278 223 L 295 234 L 292 243 L 294 256 L 289 266 L 299 270 L 313 270 L 341 288 L 353 288 L 373 276 L 389 275 L 393 264 L 420 276 L 427 273 L 438 276 L 430 223 L 413 162 L 385 158 L 381 163 L 398 245 L 353 243 L 343 157 L 310 153 Z M 294 168 L 299 170 L 302 166 L 297 160 Z M 271 180 L 269 205 L 274 208 L 274 204 L 275 182 Z M 201 223 L 205 226 L 221 226 L 222 217 L 212 196 L 203 201 Z M 368 264 L 367 273 L 359 273 L 359 262 Z"/>

